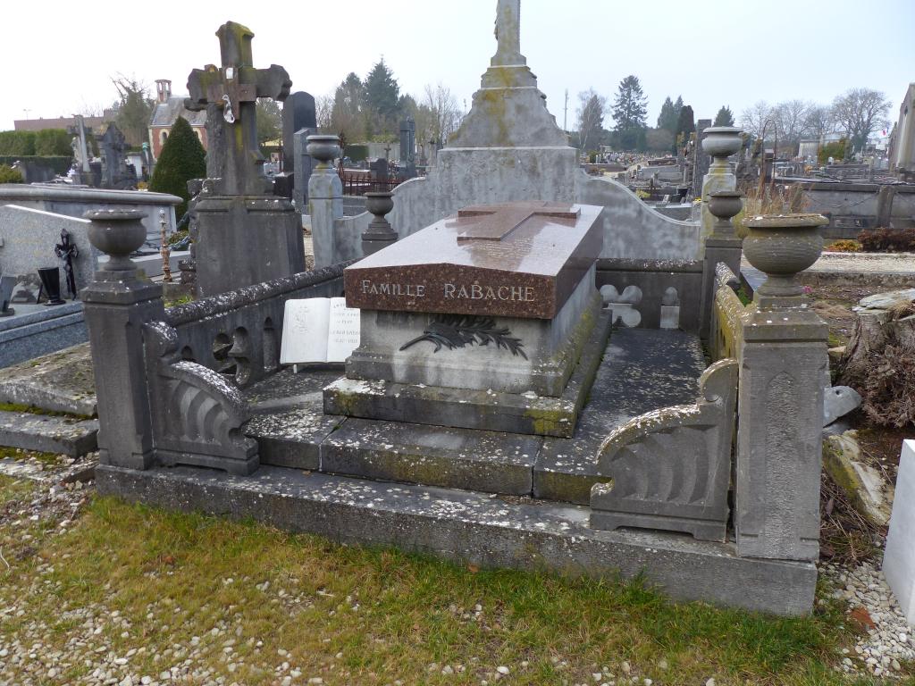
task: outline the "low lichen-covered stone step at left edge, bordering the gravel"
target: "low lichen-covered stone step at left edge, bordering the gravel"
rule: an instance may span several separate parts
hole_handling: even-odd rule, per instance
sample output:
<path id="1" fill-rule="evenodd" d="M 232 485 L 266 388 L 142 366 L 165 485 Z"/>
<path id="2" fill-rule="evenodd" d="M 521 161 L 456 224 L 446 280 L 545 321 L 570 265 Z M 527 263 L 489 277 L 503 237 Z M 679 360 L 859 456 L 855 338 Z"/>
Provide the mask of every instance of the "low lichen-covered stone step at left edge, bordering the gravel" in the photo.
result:
<path id="1" fill-rule="evenodd" d="M 80 457 L 98 445 L 95 419 L 0 411 L 0 445 Z"/>

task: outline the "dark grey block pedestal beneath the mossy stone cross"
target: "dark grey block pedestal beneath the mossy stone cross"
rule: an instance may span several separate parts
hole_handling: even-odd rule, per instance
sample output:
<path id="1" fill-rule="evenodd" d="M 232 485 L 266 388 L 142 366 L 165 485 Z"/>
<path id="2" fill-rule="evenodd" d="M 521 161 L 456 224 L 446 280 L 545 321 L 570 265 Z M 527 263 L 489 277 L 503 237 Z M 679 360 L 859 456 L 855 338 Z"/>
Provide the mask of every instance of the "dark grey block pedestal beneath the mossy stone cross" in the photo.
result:
<path id="1" fill-rule="evenodd" d="M 196 211 L 201 296 L 305 271 L 302 223 L 288 199 L 210 196 Z"/>

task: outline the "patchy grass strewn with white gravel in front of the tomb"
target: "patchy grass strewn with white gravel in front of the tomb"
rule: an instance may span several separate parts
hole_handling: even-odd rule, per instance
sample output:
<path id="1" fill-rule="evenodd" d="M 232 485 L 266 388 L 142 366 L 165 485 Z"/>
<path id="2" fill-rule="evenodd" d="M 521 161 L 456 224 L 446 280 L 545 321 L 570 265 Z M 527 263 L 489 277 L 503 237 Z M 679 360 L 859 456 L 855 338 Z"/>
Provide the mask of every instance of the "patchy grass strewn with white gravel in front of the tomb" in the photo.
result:
<path id="1" fill-rule="evenodd" d="M 173 667 L 171 682 L 246 686 L 874 682 L 832 669 L 855 636 L 832 601 L 800 619 L 675 606 L 637 583 L 478 570 L 94 495 L 61 527 L 21 516 L 34 493 L 0 478 L 0 648 L 31 647 L 15 667 L 0 658 L 0 682 L 96 682 L 100 665 L 134 684 Z"/>

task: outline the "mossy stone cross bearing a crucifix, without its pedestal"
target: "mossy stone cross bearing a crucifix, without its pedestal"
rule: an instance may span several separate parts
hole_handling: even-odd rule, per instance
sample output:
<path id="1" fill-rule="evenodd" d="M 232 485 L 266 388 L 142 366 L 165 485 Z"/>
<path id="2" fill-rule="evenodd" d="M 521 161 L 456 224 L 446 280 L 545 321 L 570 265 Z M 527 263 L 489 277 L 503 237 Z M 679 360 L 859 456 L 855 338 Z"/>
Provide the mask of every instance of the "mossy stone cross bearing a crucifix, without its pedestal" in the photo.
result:
<path id="1" fill-rule="evenodd" d="M 283 67 L 253 67 L 250 28 L 233 21 L 216 32 L 220 39 L 221 68 L 208 64 L 188 76 L 188 110 L 203 110 L 215 104 L 225 120 L 225 162 L 221 195 L 264 195 L 264 155 L 257 145 L 258 98 L 282 101 L 292 81 Z M 219 151 L 211 151 L 219 155 Z"/>

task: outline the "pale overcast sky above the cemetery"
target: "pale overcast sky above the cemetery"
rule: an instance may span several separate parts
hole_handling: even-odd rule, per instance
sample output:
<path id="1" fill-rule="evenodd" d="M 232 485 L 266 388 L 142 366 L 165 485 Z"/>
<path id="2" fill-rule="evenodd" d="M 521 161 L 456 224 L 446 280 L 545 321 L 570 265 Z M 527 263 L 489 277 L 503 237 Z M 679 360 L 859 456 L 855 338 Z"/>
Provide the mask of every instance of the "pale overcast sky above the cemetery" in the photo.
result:
<path id="1" fill-rule="evenodd" d="M 251 28 L 254 66 L 281 64 L 294 91 L 333 91 L 382 56 L 402 92 L 441 81 L 467 102 L 495 52 L 495 0 L 174 2 L 81 5 L 59 0 L 3 8 L 5 66 L 0 130 L 14 119 L 101 109 L 111 77 L 150 86 L 218 63 L 216 29 Z M 639 77 L 654 125 L 664 97 L 683 95 L 697 119 L 727 104 L 801 98 L 828 103 L 852 87 L 899 102 L 915 81 L 915 0 L 523 0 L 522 53 L 547 106 L 575 127 L 577 94 L 612 100 L 619 80 Z M 152 89 L 151 89 L 152 90 Z M 612 122 L 605 120 L 605 126 Z"/>

